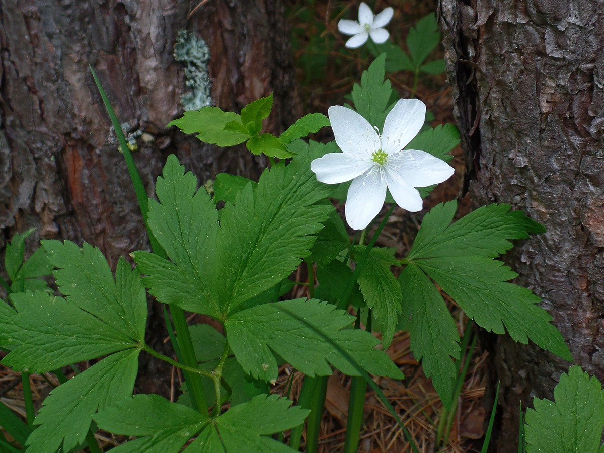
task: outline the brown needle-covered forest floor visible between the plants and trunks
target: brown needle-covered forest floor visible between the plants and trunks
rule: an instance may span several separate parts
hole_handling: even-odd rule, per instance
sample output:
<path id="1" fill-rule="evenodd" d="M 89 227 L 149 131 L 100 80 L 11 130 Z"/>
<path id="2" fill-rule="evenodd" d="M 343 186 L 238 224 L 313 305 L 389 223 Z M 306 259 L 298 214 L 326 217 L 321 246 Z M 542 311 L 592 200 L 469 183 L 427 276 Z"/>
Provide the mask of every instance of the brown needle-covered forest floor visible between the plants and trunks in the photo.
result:
<path id="1" fill-rule="evenodd" d="M 352 90 L 353 83 L 360 80 L 370 59 L 364 50 L 348 50 L 344 47 L 346 36 L 337 30 L 341 18 L 352 19 L 356 14 L 356 2 L 353 9 L 343 7 L 349 2 L 315 2 L 311 0 L 286 0 L 289 23 L 292 30 L 292 47 L 294 61 L 297 65 L 300 92 L 298 97 L 304 105 L 305 112 L 327 114 L 329 106 L 343 104 Z M 394 19 L 388 26 L 392 40 L 403 43 L 406 34 L 417 20 L 435 11 L 436 2 L 419 2 L 417 0 L 378 0 L 375 11 L 385 7 L 394 8 Z M 343 10 L 342 10 L 343 9 Z M 335 14 L 335 11 L 342 13 Z M 403 45 L 404 47 L 404 45 Z M 440 52 L 440 56 L 437 54 Z M 435 51 L 434 58 L 442 58 L 442 50 Z M 434 114 L 432 126 L 454 123 L 451 92 L 445 74 L 421 77 L 415 90 L 413 74 L 399 72 L 388 74 L 400 97 L 420 98 Z M 413 92 L 414 91 L 414 92 Z M 317 137 L 316 140 L 332 140 L 332 137 Z M 461 197 L 460 187 L 463 181 L 464 158 L 460 148 L 454 150 L 455 176 L 439 185 L 426 199 L 424 213 L 440 202 L 458 199 L 460 208 L 457 215 L 463 216 L 470 210 L 467 197 Z M 379 246 L 396 248 L 397 257 L 404 257 L 409 251 L 417 234 L 423 214 L 410 214 L 397 208 L 382 231 L 377 243 Z M 305 287 L 300 287 L 295 294 L 304 297 Z M 467 318 L 446 294 L 451 312 L 454 315 L 460 336 L 463 335 Z M 460 369 L 469 361 L 469 368 L 463 379 L 458 396 L 457 411 L 449 416 L 451 429 L 446 445 L 438 446 L 437 431 L 443 418 L 443 405 L 440 402 L 431 380 L 426 378 L 420 364 L 410 351 L 410 339 L 406 332 L 399 332 L 387 350 L 388 355 L 399 365 L 406 379 L 375 378 L 385 396 L 388 397 L 400 419 L 411 433 L 420 452 L 470 452 L 480 451 L 481 438 L 484 436 L 485 419 L 488 410 L 484 409 L 483 397 L 486 385 L 486 355 L 475 348 L 460 361 Z M 292 384 L 292 397 L 297 396 L 301 387 L 301 376 L 290 379 L 291 368 L 281 369 L 280 380 L 274 388 L 281 393 L 284 385 Z M 53 388 L 45 377 L 32 375 L 34 401 L 41 403 Z M 286 384 L 287 383 L 287 384 Z M 178 386 L 178 379 L 175 384 Z M 178 388 L 178 387 L 177 387 Z M 327 387 L 326 411 L 323 417 L 320 437 L 320 452 L 332 453 L 341 451 L 344 445 L 346 416 L 349 403 L 350 378 L 339 373 L 333 374 Z M 6 369 L 0 371 L 0 389 L 2 402 L 17 413 L 25 416 L 21 391 L 21 377 Z M 98 437 L 101 445 L 123 442 L 111 436 Z M 403 453 L 412 451 L 405 440 L 396 420 L 385 410 L 373 392 L 367 393 L 365 402 L 365 419 L 361 434 L 359 452 L 367 453 Z"/>

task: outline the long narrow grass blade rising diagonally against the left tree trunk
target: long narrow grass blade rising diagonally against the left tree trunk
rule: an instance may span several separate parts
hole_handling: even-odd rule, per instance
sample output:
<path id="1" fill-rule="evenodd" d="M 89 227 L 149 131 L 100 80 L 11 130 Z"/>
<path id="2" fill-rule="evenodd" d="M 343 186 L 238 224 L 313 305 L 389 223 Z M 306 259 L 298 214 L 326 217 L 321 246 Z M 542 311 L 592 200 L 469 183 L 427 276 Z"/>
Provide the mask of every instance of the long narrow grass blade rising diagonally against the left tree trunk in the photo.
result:
<path id="1" fill-rule="evenodd" d="M 97 84 L 98 92 L 103 99 L 104 106 L 107 110 L 109 118 L 111 119 L 111 124 L 115 129 L 115 135 L 118 138 L 120 143 L 121 150 L 124 155 L 124 160 L 126 161 L 126 166 L 128 168 L 128 173 L 130 174 L 130 179 L 132 181 L 132 186 L 134 188 L 135 194 L 137 195 L 138 206 L 140 207 L 141 214 L 143 215 L 143 222 L 145 224 L 147 230 L 147 236 L 149 236 L 149 243 L 151 245 L 151 249 L 153 253 L 156 255 L 167 258 L 164 249 L 161 244 L 159 244 L 158 240 L 153 236 L 153 232 L 149 228 L 148 221 L 148 212 L 149 212 L 149 199 L 147 198 L 147 192 L 143 185 L 143 180 L 141 179 L 140 174 L 138 173 L 137 166 L 132 158 L 132 153 L 128 148 L 126 143 L 126 137 L 124 137 L 124 132 L 121 130 L 120 122 L 115 115 L 114 109 L 109 102 L 109 98 L 105 94 L 103 86 L 101 86 L 100 80 L 98 80 L 97 74 L 92 69 L 91 65 L 88 65 L 90 68 L 90 72 L 92 73 L 92 77 L 94 78 L 94 82 Z M 191 370 L 198 370 L 198 361 L 195 356 L 195 351 L 193 349 L 193 342 L 191 341 L 191 335 L 188 330 L 187 318 L 185 317 L 184 310 L 180 307 L 172 306 L 170 307 L 170 313 L 172 314 L 172 321 L 174 322 L 174 329 L 176 330 L 176 339 L 177 343 L 173 344 L 173 348 L 175 350 L 180 350 L 182 355 L 182 364 L 188 367 L 188 370 L 183 368 L 183 374 L 185 377 L 185 381 L 187 382 L 187 388 L 190 392 L 191 396 L 191 405 L 195 410 L 198 410 L 204 417 L 208 417 L 208 405 L 205 401 L 204 396 L 204 388 L 201 383 L 201 377 L 199 373 L 195 373 Z M 170 337 L 172 339 L 172 336 Z"/>

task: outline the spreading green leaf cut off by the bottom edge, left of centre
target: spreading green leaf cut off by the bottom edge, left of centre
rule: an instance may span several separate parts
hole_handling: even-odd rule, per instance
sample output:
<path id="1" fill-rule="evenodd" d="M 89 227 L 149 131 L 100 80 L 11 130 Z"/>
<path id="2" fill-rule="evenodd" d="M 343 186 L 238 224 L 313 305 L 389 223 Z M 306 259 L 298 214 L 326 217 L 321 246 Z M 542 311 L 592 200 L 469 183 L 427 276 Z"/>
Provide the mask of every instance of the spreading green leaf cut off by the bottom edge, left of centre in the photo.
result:
<path id="1" fill-rule="evenodd" d="M 304 422 L 309 411 L 291 408 L 291 403 L 277 395 L 259 395 L 208 423 L 197 411 L 158 395 L 136 395 L 97 414 L 95 421 L 106 431 L 138 437 L 113 449 L 116 453 L 178 453 L 195 435 L 185 452 L 292 452 L 267 437 Z"/>

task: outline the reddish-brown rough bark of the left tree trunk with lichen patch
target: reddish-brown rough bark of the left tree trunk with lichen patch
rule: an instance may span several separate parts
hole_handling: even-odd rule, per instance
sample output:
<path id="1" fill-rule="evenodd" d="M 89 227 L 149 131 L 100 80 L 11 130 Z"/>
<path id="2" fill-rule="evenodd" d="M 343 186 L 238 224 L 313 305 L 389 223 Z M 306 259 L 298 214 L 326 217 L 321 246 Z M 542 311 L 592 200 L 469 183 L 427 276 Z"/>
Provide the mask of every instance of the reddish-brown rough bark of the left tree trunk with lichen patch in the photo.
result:
<path id="1" fill-rule="evenodd" d="M 70 239 L 117 258 L 148 247 L 123 157 L 110 140 L 88 63 L 121 121 L 155 139 L 135 153 L 147 191 L 169 153 L 201 182 L 219 172 L 259 175 L 249 152 L 202 146 L 165 127 L 179 115 L 177 31 L 208 43 L 213 104 L 237 110 L 275 95 L 269 129 L 297 119 L 294 71 L 280 0 L 2 0 L 0 2 L 0 254 L 35 226 L 34 240 Z M 34 241 L 35 242 L 35 241 Z M 161 311 L 158 307 L 153 310 Z M 155 313 L 150 331 L 165 329 Z M 150 339 L 152 341 L 152 339 Z M 153 342 L 151 343 L 153 344 Z M 157 344 L 157 342 L 155 342 Z M 141 364 L 145 391 L 165 394 L 165 369 Z M 169 373 L 168 373 L 169 375 Z"/>

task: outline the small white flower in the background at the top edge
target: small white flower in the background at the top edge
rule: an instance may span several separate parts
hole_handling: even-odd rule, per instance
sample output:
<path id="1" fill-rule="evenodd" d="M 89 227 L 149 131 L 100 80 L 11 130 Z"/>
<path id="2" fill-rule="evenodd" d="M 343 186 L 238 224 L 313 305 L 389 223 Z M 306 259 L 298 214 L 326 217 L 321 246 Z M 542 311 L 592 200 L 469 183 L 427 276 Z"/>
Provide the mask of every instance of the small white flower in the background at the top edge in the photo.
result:
<path id="1" fill-rule="evenodd" d="M 371 39 L 376 44 L 381 44 L 386 42 L 390 33 L 384 30 L 390 19 L 392 19 L 392 15 L 394 14 L 394 10 L 390 7 L 386 8 L 381 13 L 376 16 L 373 15 L 373 11 L 365 2 L 362 2 L 359 6 L 359 21 L 347 21 L 346 19 L 342 19 L 338 22 L 338 30 L 341 33 L 353 35 L 352 38 L 347 40 L 346 47 L 350 49 L 356 49 L 361 47 L 365 42 L 367 42 L 367 38 L 371 36 Z"/>

